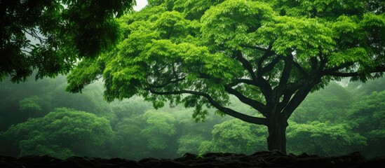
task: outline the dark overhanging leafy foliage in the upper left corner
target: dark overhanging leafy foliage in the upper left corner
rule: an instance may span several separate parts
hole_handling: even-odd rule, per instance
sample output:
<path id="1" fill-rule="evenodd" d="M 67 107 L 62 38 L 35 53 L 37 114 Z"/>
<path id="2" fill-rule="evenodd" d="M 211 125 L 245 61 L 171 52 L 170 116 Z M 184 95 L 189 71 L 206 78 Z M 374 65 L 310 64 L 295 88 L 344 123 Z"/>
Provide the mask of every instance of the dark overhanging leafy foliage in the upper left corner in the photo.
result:
<path id="1" fill-rule="evenodd" d="M 67 73 L 76 59 L 114 47 L 119 25 L 133 0 L 0 1 L 0 81 Z"/>

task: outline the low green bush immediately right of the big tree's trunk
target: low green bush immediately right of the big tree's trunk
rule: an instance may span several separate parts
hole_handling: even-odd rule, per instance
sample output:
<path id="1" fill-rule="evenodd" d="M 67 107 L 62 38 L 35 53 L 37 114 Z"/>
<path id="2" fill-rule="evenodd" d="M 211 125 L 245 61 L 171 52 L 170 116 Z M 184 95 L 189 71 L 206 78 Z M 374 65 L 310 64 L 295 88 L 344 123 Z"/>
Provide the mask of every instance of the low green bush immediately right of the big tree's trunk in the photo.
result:
<path id="1" fill-rule="evenodd" d="M 288 150 L 292 153 L 318 155 L 343 155 L 367 146 L 367 139 L 351 132 L 347 123 L 332 125 L 314 121 L 309 124 L 290 123 L 288 127 Z"/>

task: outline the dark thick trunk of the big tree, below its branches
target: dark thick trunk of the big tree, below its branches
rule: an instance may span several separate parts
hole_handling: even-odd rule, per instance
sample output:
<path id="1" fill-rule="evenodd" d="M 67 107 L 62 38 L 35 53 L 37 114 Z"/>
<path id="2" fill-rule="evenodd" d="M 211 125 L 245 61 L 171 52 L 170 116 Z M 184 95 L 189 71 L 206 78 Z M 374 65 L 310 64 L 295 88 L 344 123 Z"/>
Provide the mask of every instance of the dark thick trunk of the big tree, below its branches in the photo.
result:
<path id="1" fill-rule="evenodd" d="M 273 118 L 269 121 L 267 125 L 269 130 L 267 148 L 269 151 L 277 150 L 286 153 L 286 127 L 288 127 L 288 121 L 282 117 Z"/>

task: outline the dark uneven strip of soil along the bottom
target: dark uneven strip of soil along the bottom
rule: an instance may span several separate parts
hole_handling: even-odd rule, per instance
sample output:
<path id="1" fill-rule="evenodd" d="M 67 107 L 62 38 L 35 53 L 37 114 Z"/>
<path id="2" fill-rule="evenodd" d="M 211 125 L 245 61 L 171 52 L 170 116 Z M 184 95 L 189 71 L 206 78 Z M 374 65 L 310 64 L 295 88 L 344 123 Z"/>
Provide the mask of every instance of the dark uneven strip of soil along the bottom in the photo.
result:
<path id="1" fill-rule="evenodd" d="M 262 151 L 253 155 L 238 155 L 233 153 L 208 153 L 205 155 L 194 155 L 186 153 L 184 157 L 174 160 L 144 158 L 140 161 L 124 160 L 120 158 L 100 159 L 72 157 L 65 160 L 49 156 L 26 156 L 12 158 L 0 156 L 0 167 L 196 167 L 196 168 L 241 168 L 241 167 L 385 167 L 385 157 L 366 160 L 360 153 L 342 155 L 338 157 L 319 157 L 316 155 L 285 155 L 278 151 Z"/>

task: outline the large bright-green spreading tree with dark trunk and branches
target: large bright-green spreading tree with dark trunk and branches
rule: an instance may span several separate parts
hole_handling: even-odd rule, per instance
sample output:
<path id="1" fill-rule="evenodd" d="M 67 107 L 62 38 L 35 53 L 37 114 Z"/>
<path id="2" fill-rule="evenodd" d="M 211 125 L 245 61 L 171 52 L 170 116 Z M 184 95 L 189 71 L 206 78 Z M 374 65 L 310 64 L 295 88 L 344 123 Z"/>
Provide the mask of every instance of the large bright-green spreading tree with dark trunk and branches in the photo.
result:
<path id="1" fill-rule="evenodd" d="M 269 150 L 286 151 L 288 118 L 330 80 L 368 80 L 385 71 L 383 1 L 149 1 L 121 18 L 124 41 L 68 76 L 80 92 L 100 76 L 107 101 L 140 95 L 205 107 L 266 125 Z M 231 108 L 229 95 L 259 115 Z"/>

